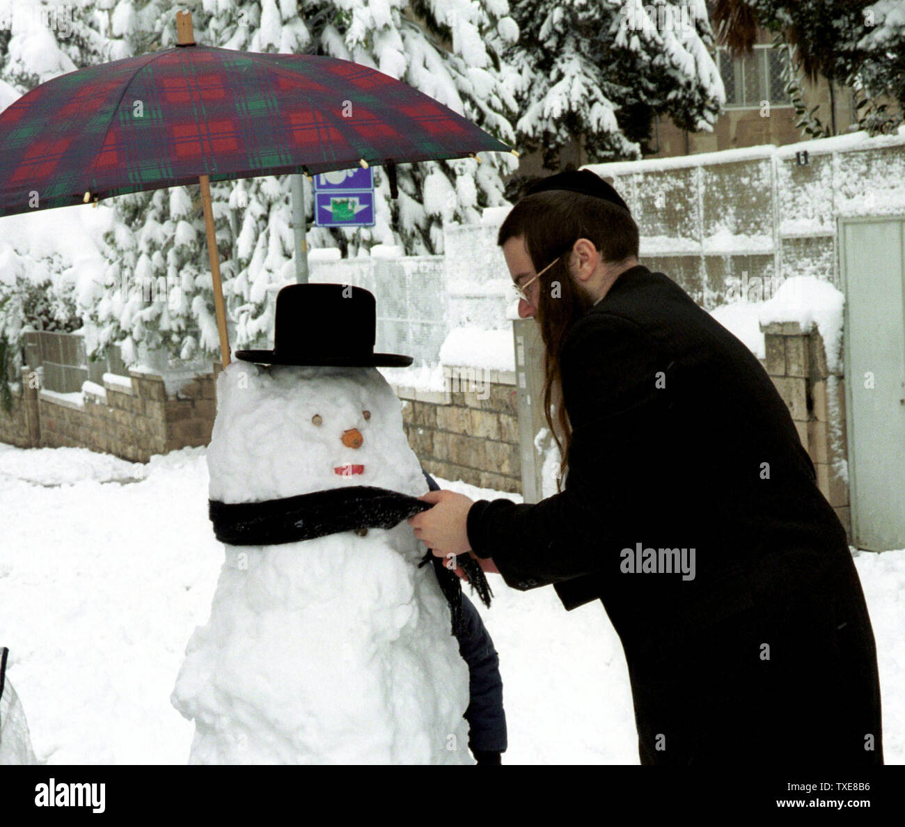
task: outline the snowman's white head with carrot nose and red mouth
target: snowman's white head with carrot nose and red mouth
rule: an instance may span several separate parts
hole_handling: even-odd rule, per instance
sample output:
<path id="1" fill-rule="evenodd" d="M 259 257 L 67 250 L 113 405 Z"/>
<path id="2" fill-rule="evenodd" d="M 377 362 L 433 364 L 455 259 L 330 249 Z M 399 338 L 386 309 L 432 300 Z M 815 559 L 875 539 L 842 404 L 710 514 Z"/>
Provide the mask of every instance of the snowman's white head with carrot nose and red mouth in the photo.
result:
<path id="1" fill-rule="evenodd" d="M 342 486 L 424 491 L 399 400 L 374 367 L 233 362 L 217 380 L 210 496 L 279 499 Z"/>

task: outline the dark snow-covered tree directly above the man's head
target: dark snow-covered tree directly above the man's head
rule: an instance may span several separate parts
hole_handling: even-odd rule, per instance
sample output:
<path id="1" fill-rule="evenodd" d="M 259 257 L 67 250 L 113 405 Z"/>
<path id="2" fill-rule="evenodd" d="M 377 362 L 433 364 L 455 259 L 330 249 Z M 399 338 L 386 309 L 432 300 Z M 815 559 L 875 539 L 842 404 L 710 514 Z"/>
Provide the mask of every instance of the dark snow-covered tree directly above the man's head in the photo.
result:
<path id="1" fill-rule="evenodd" d="M 518 142 L 544 166 L 579 136 L 592 161 L 640 157 L 654 115 L 712 129 L 726 97 L 704 0 L 514 0 L 511 14 Z"/>

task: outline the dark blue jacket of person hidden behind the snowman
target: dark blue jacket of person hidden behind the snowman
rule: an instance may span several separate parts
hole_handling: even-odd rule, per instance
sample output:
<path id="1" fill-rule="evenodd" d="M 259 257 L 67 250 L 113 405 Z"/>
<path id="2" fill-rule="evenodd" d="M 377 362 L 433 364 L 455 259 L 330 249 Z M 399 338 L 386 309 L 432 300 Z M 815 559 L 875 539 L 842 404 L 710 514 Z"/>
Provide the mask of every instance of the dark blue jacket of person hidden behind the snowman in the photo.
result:
<path id="1" fill-rule="evenodd" d="M 426 472 L 424 477 L 432 491 L 440 486 Z M 472 752 L 505 752 L 506 712 L 503 709 L 503 681 L 500 658 L 481 615 L 462 591 L 462 612 L 470 637 L 459 638 L 459 653 L 468 664 L 470 701 L 465 710 L 468 721 L 468 746 Z"/>

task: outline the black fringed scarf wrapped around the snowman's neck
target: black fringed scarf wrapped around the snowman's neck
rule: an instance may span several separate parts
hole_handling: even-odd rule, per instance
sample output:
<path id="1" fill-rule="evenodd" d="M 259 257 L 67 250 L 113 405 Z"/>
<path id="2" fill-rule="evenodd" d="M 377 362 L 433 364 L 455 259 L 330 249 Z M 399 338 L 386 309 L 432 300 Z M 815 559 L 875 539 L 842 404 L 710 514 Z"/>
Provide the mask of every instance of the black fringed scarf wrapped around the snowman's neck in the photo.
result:
<path id="1" fill-rule="evenodd" d="M 371 485 L 312 491 L 296 497 L 262 502 L 225 503 L 208 500 L 214 535 L 230 546 L 273 546 L 367 528 L 394 528 L 404 519 L 432 508 L 424 500 Z M 428 551 L 419 565 L 433 562 L 433 571 L 452 613 L 452 633 L 468 638 L 462 612 L 462 584 L 443 559 Z M 491 588 L 481 566 L 471 555 L 459 555 L 462 568 L 484 605 L 491 605 Z"/>

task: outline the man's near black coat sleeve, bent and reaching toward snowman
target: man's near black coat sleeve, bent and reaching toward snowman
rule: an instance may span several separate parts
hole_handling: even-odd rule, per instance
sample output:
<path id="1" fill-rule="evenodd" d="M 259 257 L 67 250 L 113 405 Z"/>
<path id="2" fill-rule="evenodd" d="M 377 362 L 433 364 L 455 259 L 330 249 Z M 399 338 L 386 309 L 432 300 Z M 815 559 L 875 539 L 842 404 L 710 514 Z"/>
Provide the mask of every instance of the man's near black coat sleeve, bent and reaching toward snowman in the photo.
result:
<path id="1" fill-rule="evenodd" d="M 602 556 L 618 556 L 625 527 L 637 526 L 643 471 L 661 448 L 669 365 L 643 328 L 589 313 L 569 332 L 560 365 L 573 428 L 564 490 L 533 505 L 479 500 L 467 518 L 474 554 L 492 557 L 521 590 L 599 574 Z"/>

